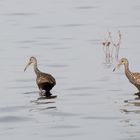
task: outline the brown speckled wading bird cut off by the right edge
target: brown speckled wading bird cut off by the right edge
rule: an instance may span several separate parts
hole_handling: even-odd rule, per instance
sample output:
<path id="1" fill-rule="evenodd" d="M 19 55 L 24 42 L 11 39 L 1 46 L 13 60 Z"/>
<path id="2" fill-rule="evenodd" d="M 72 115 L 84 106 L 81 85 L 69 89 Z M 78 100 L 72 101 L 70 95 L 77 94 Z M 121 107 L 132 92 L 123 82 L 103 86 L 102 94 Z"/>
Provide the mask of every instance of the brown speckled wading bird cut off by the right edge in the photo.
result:
<path id="1" fill-rule="evenodd" d="M 135 93 L 135 95 L 138 95 L 140 97 L 140 73 L 134 73 L 129 70 L 129 62 L 126 58 L 121 58 L 118 65 L 113 69 L 115 71 L 116 68 L 119 68 L 121 65 L 124 65 L 125 69 L 125 75 L 137 89 L 138 93 Z"/>

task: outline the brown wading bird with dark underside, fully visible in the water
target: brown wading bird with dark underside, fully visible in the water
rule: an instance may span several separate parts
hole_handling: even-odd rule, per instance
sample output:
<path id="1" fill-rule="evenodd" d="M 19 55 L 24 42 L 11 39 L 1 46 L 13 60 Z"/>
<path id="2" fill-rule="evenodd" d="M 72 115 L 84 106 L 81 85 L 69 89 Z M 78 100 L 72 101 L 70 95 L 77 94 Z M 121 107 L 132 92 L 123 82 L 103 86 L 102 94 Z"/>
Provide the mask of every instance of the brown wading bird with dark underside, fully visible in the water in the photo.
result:
<path id="1" fill-rule="evenodd" d="M 37 59 L 35 57 L 30 57 L 28 64 L 26 65 L 24 71 L 29 65 L 33 65 L 36 74 L 36 83 L 40 90 L 40 96 L 51 97 L 50 90 L 56 85 L 54 77 L 50 74 L 41 72 L 37 67 Z"/>

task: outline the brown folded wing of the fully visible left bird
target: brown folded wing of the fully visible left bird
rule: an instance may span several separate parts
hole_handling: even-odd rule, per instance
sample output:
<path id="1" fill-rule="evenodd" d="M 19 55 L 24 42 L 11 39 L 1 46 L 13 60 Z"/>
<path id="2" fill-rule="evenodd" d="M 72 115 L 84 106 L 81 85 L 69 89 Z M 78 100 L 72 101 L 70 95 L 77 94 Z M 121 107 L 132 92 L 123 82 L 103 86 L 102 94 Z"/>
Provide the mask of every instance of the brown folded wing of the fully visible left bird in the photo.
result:
<path id="1" fill-rule="evenodd" d="M 38 77 L 37 77 L 37 83 L 38 84 L 43 84 L 43 83 L 52 83 L 52 84 L 56 84 L 55 79 L 53 78 L 52 75 L 50 74 L 46 74 L 46 73 L 41 73 Z"/>

